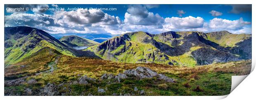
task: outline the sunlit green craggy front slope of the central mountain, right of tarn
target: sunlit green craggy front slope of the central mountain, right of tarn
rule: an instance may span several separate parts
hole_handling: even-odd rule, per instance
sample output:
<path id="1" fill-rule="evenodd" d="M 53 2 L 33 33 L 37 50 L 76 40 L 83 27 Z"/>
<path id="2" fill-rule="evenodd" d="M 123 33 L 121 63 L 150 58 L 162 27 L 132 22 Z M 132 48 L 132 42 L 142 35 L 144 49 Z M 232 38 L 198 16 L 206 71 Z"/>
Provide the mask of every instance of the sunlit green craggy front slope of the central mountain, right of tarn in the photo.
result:
<path id="1" fill-rule="evenodd" d="M 143 38 L 139 39 L 137 37 Z M 148 36 L 145 32 L 124 34 L 109 39 L 99 45 L 92 46 L 87 50 L 97 51 L 95 54 L 111 61 L 127 63 L 161 62 L 168 64 L 169 59 L 167 55 L 155 48 L 151 43 L 148 43 L 151 41 L 143 42 L 143 40 L 149 38 L 152 39 L 152 37 Z"/>

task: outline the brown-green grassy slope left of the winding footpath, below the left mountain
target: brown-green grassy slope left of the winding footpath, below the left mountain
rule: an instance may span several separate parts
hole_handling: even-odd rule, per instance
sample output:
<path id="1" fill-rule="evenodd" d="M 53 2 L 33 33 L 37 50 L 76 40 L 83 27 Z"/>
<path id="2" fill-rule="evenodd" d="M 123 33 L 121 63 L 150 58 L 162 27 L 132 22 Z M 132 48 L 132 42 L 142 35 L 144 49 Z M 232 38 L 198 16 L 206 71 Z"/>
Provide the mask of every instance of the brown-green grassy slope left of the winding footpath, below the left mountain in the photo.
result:
<path id="1" fill-rule="evenodd" d="M 19 78 L 49 70 L 48 64 L 62 55 L 59 51 L 45 47 L 31 56 L 5 68 L 5 79 Z"/>

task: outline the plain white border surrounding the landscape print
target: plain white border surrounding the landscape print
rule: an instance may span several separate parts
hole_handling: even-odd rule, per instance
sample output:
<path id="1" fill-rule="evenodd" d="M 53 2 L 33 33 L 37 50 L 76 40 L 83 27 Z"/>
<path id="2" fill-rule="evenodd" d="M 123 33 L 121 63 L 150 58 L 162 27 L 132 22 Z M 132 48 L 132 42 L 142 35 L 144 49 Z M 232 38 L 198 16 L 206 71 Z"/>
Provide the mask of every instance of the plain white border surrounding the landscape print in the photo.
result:
<path id="1" fill-rule="evenodd" d="M 2 33 L 0 35 L 1 39 L 0 42 L 2 44 L 1 48 L 1 53 L 0 53 L 0 61 L 1 61 L 1 65 L 2 65 L 2 70 L 0 71 L 1 74 L 4 74 L 4 47 L 3 47 L 3 43 L 4 43 L 4 4 L 253 4 L 252 5 L 252 37 L 255 37 L 255 30 L 253 27 L 255 27 L 255 20 L 254 18 L 256 18 L 255 16 L 255 10 L 256 7 L 254 0 L 1 0 L 1 10 L 0 10 L 0 19 L 1 19 L 1 23 L 0 24 L 0 32 Z M 252 39 L 252 70 L 254 70 L 255 67 L 255 40 Z M 251 70 L 251 71 L 252 71 Z M 254 76 L 249 75 L 251 79 L 245 79 L 247 81 L 251 81 L 251 80 L 255 80 L 255 74 Z M 144 99 L 149 99 L 149 100 L 158 100 L 158 99 L 196 99 L 196 100 L 209 100 L 209 99 L 221 99 L 221 98 L 225 98 L 228 95 L 224 95 L 224 96 L 126 96 L 124 98 L 124 96 L 3 96 L 4 95 L 4 77 L 0 77 L 2 86 L 0 87 L 1 91 L 0 91 L 0 95 L 2 95 L 2 100 L 9 100 L 9 99 L 16 99 L 16 100 L 20 100 L 20 99 L 26 99 L 26 100 L 45 100 L 45 99 L 63 99 L 63 100 L 70 100 L 73 98 L 76 99 L 106 99 L 106 100 L 130 100 L 130 99 L 140 99 L 140 100 L 144 100 Z M 255 83 L 255 81 L 254 81 Z M 247 83 L 248 84 L 248 83 Z M 251 84 L 252 85 L 252 84 Z M 238 86 L 239 87 L 239 86 Z M 250 88 L 251 86 L 246 86 L 246 91 L 236 91 L 236 89 L 234 90 L 234 92 L 236 92 L 238 95 L 232 95 L 233 97 L 229 97 L 229 99 L 236 99 L 237 97 L 243 97 L 243 98 L 248 98 L 248 97 L 253 97 L 254 95 L 239 95 L 239 94 L 243 94 L 248 92 L 254 92 L 254 90 L 251 90 Z M 255 89 L 255 86 L 252 86 Z M 231 95 L 230 95 L 231 96 Z"/>

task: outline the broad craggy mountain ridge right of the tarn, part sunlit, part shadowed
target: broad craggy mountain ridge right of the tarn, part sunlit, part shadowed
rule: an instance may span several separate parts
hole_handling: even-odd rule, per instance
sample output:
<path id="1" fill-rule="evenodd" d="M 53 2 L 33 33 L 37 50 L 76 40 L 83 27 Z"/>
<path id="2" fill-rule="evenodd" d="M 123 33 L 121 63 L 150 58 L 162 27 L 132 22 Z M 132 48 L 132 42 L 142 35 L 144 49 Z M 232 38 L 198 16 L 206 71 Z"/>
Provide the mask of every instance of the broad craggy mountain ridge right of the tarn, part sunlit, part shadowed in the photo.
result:
<path id="1" fill-rule="evenodd" d="M 86 50 L 112 61 L 196 66 L 251 59 L 251 35 L 227 31 L 132 32 Z"/>

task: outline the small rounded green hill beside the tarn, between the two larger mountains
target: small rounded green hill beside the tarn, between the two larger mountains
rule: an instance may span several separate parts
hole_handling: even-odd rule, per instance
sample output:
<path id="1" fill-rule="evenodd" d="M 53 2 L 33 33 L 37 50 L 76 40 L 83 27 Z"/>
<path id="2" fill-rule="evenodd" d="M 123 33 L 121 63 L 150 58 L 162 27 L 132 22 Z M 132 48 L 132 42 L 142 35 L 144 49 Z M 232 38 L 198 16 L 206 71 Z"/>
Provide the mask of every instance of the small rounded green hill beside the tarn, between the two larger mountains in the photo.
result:
<path id="1" fill-rule="evenodd" d="M 71 35 L 71 36 L 63 36 L 59 39 L 62 43 L 69 45 L 70 47 L 74 46 L 92 46 L 98 44 L 98 42 L 85 39 L 79 36 Z"/>

